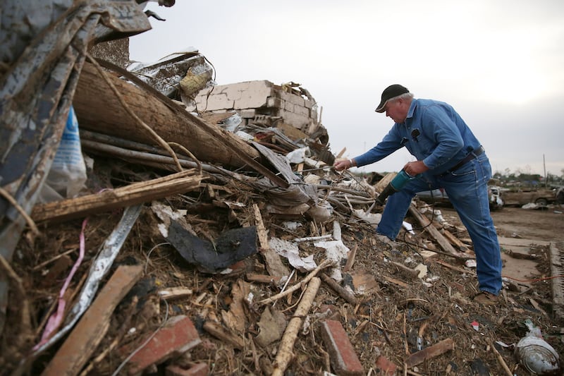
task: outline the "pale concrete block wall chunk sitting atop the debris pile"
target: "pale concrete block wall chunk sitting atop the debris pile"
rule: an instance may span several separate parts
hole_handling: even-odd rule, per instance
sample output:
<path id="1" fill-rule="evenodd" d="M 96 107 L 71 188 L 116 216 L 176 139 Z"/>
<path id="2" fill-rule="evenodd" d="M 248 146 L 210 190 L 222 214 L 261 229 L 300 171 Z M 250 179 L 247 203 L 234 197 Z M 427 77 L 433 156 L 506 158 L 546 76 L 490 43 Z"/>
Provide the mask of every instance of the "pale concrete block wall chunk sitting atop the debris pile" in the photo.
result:
<path id="1" fill-rule="evenodd" d="M 188 111 L 195 111 L 196 108 L 212 112 L 235 110 L 246 123 L 252 123 L 255 116 L 266 115 L 281 118 L 284 123 L 303 131 L 310 130 L 312 124 L 313 128 L 317 125 L 317 106 L 311 99 L 302 97 L 298 90 L 286 92 L 281 86 L 267 80 L 204 89 L 195 97 L 195 105 L 188 107 Z"/>

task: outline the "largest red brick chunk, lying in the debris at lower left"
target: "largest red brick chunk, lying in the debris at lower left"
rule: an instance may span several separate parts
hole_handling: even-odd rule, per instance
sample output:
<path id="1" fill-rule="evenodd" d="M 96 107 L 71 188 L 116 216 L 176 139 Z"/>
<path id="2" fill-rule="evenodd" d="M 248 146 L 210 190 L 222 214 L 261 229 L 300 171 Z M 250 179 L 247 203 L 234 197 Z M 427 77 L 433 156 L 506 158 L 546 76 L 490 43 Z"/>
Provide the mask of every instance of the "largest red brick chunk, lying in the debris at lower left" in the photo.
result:
<path id="1" fill-rule="evenodd" d="M 146 339 L 140 341 L 144 343 Z M 157 334 L 129 360 L 129 373 L 136 375 L 149 365 L 159 364 L 190 348 L 200 344 L 202 340 L 194 324 L 186 316 L 172 317 Z"/>

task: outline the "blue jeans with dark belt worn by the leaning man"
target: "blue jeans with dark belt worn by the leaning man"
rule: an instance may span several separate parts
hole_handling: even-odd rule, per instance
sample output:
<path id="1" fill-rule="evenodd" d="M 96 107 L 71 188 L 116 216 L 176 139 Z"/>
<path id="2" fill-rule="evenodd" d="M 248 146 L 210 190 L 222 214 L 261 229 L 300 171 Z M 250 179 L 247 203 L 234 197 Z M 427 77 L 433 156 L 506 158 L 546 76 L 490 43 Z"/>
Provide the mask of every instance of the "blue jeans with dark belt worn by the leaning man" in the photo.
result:
<path id="1" fill-rule="evenodd" d="M 490 178 L 491 165 L 485 153 L 456 171 L 436 176 L 425 173 L 388 197 L 376 232 L 396 239 L 415 193 L 444 188 L 474 244 L 479 289 L 498 295 L 502 264 L 498 236 L 489 212 L 487 184 Z"/>

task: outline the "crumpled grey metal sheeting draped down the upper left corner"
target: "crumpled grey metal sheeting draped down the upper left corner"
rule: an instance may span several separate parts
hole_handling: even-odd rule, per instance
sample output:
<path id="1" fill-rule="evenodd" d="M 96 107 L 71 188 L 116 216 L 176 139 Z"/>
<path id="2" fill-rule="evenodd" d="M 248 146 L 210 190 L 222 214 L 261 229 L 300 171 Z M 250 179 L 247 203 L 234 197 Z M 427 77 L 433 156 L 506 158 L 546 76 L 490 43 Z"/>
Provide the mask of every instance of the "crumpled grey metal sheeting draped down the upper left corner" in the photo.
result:
<path id="1" fill-rule="evenodd" d="M 0 186 L 30 213 L 65 127 L 94 30 L 150 28 L 135 1 L 4 0 L 0 12 Z M 25 222 L 0 198 L 0 255 L 8 262 Z M 0 332 L 7 284 L 0 280 Z"/>

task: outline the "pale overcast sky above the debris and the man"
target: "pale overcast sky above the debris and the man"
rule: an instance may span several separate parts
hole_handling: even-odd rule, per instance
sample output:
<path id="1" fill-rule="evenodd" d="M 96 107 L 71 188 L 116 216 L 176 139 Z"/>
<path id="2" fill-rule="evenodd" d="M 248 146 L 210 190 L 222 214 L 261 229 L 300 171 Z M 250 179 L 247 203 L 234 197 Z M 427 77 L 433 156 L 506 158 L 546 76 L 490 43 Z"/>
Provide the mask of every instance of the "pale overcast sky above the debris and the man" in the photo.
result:
<path id="1" fill-rule="evenodd" d="M 216 83 L 294 81 L 317 100 L 333 154 L 369 150 L 391 119 L 374 112 L 393 83 L 452 104 L 494 171 L 562 175 L 563 0 L 176 0 L 130 38 L 151 62 L 195 47 Z M 398 171 L 399 150 L 363 171 Z"/>

